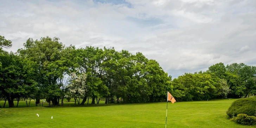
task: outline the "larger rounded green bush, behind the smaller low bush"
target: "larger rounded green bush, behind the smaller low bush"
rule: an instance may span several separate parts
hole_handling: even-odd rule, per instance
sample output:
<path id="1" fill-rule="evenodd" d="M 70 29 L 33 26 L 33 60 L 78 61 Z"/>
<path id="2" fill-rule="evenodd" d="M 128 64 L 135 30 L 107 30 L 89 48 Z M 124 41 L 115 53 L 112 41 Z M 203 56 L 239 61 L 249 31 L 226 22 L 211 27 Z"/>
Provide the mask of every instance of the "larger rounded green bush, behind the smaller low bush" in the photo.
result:
<path id="1" fill-rule="evenodd" d="M 226 113 L 230 118 L 238 114 L 247 114 L 248 116 L 255 116 L 256 96 L 249 98 L 240 98 L 234 101 Z"/>

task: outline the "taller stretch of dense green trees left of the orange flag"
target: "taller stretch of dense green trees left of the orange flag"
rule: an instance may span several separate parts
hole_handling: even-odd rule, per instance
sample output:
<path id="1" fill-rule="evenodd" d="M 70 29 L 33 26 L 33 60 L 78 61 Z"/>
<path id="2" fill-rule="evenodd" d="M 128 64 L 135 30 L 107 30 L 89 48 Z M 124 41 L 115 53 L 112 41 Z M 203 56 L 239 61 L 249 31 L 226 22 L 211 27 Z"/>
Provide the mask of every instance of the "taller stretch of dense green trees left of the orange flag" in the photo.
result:
<path id="1" fill-rule="evenodd" d="M 46 99 L 53 105 L 63 105 L 64 98 L 83 105 L 89 97 L 92 104 L 100 98 L 105 103 L 160 102 L 171 89 L 159 63 L 140 52 L 76 49 L 56 37 L 29 38 L 23 46 L 15 53 L 0 54 L 1 97 L 10 107 L 20 98 L 35 99 L 36 104 Z"/>

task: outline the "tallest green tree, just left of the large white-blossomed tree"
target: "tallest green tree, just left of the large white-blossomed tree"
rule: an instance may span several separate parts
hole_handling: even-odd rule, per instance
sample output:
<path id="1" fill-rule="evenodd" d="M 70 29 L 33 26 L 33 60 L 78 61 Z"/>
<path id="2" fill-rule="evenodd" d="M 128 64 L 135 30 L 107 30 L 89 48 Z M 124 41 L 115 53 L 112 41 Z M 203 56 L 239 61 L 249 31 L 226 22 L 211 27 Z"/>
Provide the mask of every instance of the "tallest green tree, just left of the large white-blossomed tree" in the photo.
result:
<path id="1" fill-rule="evenodd" d="M 39 92 L 43 92 L 44 97 L 51 100 L 53 105 L 59 105 L 59 98 L 62 96 L 61 81 L 69 69 L 66 65 L 69 61 L 62 56 L 64 47 L 59 38 L 44 37 L 35 41 L 29 38 L 24 43 L 24 48 L 18 50 L 20 56 L 37 64 L 34 79 L 41 90 Z M 36 104 L 39 101 L 40 97 L 36 97 Z"/>

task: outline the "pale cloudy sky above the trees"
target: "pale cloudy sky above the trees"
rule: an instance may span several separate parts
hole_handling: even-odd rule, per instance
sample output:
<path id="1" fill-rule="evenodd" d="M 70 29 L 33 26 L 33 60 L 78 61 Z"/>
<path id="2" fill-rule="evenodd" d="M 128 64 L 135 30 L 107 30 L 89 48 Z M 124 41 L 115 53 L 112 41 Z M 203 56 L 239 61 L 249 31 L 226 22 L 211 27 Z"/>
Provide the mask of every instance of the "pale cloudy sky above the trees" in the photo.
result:
<path id="1" fill-rule="evenodd" d="M 142 52 L 173 77 L 256 65 L 256 0 L 0 0 L 0 35 Z"/>

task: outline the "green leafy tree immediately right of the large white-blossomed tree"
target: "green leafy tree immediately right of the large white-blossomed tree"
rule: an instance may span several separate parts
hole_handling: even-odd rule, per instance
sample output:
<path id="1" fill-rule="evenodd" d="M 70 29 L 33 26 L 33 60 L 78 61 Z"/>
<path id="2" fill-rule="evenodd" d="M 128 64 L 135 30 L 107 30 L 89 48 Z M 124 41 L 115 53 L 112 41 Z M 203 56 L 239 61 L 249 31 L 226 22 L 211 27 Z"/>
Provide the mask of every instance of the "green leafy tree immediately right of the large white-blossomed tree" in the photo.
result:
<path id="1" fill-rule="evenodd" d="M 92 98 L 91 104 L 95 104 L 95 98 L 97 100 L 109 94 L 106 84 L 103 83 L 103 69 L 106 67 L 103 62 L 107 59 L 104 54 L 102 49 L 89 46 L 78 49 L 76 52 L 77 70 L 79 73 L 87 74 L 87 84 L 90 87 L 88 96 Z M 83 100 L 86 101 L 86 97 Z"/>

